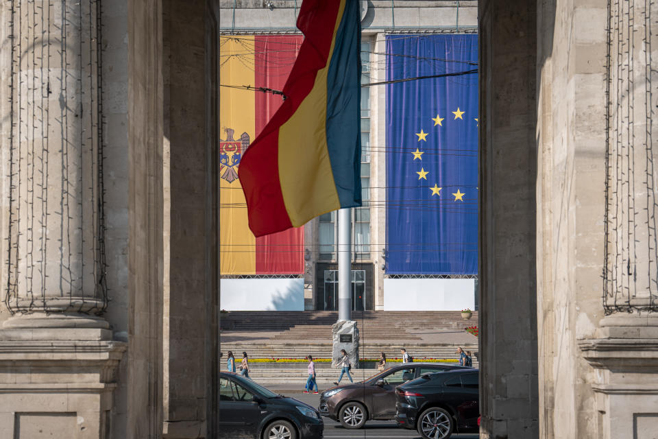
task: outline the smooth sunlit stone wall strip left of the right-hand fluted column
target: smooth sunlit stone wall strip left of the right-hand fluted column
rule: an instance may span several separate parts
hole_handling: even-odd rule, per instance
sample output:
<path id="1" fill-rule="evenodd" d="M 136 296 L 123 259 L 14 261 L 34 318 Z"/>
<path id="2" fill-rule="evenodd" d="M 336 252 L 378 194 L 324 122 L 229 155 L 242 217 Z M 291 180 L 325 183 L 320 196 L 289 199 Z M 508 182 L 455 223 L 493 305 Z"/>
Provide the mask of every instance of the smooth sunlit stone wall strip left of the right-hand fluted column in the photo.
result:
<path id="1" fill-rule="evenodd" d="M 603 317 L 607 5 L 538 12 L 537 315 L 541 438 L 600 437 L 576 340 Z"/>

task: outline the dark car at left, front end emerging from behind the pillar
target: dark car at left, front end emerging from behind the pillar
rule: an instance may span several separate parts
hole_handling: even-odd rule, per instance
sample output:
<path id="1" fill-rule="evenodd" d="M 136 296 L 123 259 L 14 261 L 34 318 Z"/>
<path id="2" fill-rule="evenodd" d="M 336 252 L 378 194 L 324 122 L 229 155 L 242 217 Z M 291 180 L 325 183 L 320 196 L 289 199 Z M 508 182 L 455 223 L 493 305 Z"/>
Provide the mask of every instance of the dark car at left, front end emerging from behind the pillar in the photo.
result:
<path id="1" fill-rule="evenodd" d="M 315 408 L 231 372 L 219 374 L 219 437 L 321 439 Z"/>

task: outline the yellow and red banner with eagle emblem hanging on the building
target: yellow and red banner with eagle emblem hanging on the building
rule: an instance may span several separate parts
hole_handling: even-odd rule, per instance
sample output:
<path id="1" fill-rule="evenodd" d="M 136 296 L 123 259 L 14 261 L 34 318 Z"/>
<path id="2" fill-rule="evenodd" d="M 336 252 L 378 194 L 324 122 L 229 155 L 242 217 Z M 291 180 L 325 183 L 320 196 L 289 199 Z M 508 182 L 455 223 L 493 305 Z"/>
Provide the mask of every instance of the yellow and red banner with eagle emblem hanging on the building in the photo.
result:
<path id="1" fill-rule="evenodd" d="M 303 274 L 304 228 L 254 237 L 238 169 L 252 141 L 281 106 L 281 90 L 302 36 L 221 36 L 219 43 L 219 224 L 221 274 Z M 232 86 L 239 88 L 232 88 Z"/>

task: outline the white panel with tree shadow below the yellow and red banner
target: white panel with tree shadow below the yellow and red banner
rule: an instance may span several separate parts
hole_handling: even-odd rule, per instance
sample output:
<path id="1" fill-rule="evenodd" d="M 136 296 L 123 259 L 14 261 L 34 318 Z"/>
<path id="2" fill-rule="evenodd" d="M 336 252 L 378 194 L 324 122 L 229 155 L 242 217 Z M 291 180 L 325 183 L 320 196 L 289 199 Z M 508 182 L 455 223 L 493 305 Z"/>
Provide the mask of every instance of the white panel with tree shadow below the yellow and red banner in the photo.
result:
<path id="1" fill-rule="evenodd" d="M 304 279 L 221 279 L 226 311 L 304 311 Z"/>

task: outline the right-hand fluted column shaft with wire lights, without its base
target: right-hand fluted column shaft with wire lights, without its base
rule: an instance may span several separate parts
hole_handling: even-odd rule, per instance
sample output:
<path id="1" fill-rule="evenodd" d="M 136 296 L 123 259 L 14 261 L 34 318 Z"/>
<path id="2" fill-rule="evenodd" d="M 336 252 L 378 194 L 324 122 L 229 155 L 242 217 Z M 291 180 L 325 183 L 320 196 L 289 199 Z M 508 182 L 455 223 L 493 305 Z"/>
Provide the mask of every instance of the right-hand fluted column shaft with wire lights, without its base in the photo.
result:
<path id="1" fill-rule="evenodd" d="M 658 311 L 658 4 L 609 15 L 604 305 Z"/>

